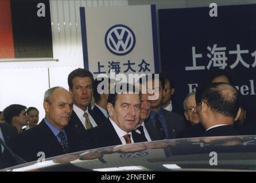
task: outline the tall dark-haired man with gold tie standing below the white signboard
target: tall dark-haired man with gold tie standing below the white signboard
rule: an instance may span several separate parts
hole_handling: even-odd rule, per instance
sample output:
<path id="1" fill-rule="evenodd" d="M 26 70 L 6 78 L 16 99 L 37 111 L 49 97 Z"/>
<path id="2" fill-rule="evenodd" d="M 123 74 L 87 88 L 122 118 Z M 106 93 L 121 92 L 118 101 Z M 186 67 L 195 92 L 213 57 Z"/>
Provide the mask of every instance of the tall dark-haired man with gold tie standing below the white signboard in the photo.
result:
<path id="1" fill-rule="evenodd" d="M 93 85 L 94 77 L 86 69 L 75 69 L 68 75 L 69 92 L 74 105 L 67 129 L 75 136 L 82 136 L 85 130 L 98 125 L 91 116 Z"/>

